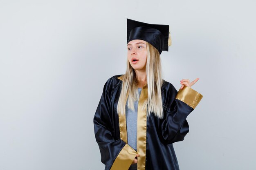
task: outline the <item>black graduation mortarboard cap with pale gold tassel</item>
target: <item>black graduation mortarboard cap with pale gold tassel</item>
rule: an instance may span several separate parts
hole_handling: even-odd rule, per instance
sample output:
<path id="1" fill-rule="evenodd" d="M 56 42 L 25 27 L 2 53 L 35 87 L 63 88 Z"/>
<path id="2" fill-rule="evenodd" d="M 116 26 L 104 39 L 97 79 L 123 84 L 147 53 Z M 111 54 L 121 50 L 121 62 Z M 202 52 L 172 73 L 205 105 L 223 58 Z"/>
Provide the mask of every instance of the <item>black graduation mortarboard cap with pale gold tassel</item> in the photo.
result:
<path id="1" fill-rule="evenodd" d="M 169 25 L 147 24 L 127 18 L 127 44 L 132 40 L 144 40 L 161 54 L 171 45 Z"/>

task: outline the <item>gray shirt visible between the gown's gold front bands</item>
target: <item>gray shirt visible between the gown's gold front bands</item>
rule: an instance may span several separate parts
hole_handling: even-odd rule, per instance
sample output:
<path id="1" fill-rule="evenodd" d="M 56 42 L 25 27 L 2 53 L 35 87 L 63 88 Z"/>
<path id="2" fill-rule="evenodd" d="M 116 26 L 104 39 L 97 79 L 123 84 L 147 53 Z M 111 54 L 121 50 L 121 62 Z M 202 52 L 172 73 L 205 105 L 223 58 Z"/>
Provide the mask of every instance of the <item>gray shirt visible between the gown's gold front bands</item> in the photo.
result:
<path id="1" fill-rule="evenodd" d="M 138 88 L 139 95 L 141 88 Z M 138 101 L 134 102 L 134 111 L 130 110 L 126 102 L 126 129 L 127 129 L 127 143 L 134 150 L 137 151 L 137 110 Z M 129 170 L 137 170 L 137 163 L 132 164 Z"/>

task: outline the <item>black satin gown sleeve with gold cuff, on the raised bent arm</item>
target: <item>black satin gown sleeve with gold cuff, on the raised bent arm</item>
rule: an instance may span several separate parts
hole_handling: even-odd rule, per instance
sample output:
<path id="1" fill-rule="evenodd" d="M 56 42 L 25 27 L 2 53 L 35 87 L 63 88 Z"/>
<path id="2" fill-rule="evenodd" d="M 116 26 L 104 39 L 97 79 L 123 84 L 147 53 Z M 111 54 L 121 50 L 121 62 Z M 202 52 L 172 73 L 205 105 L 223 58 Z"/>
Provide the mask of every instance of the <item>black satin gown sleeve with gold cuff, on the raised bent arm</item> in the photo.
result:
<path id="1" fill-rule="evenodd" d="M 177 90 L 171 85 L 165 93 L 164 119 L 160 119 L 162 137 L 168 144 L 184 140 L 189 132 L 189 124 L 186 121 L 202 99 L 202 95 L 197 91 L 185 86 Z"/>

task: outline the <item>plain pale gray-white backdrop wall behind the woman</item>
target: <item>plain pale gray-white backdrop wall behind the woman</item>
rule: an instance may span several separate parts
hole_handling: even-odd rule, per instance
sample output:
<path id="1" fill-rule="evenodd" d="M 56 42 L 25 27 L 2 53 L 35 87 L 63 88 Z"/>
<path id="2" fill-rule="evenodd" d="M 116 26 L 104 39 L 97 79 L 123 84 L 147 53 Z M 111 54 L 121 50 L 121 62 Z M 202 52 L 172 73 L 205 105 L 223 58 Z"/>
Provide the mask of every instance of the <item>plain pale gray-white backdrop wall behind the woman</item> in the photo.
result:
<path id="1" fill-rule="evenodd" d="M 0 0 L 0 170 L 103 170 L 93 116 L 126 71 L 126 18 L 170 25 L 164 79 L 204 97 L 180 170 L 256 169 L 253 0 Z"/>

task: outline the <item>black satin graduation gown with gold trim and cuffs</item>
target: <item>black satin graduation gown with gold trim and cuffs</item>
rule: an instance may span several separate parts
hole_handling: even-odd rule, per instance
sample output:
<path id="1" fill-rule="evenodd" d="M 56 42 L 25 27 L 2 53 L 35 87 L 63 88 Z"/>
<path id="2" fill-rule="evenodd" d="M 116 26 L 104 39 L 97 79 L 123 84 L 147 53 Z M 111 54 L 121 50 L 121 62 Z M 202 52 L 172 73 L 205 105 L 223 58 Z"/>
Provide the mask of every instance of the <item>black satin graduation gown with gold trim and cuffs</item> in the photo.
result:
<path id="1" fill-rule="evenodd" d="M 117 114 L 123 75 L 109 78 L 93 118 L 94 133 L 105 170 L 128 170 L 137 154 L 137 170 L 179 170 L 173 143 L 189 132 L 186 117 L 202 95 L 184 86 L 179 92 L 164 81 L 161 93 L 164 118 L 146 116 L 142 104 L 148 98 L 147 84 L 141 89 L 137 111 L 137 151 L 127 144 L 126 116 Z"/>

